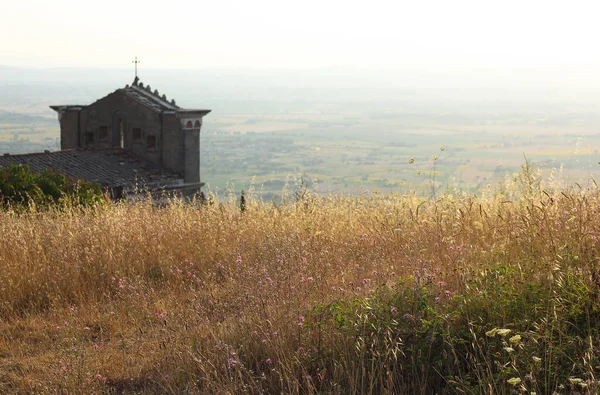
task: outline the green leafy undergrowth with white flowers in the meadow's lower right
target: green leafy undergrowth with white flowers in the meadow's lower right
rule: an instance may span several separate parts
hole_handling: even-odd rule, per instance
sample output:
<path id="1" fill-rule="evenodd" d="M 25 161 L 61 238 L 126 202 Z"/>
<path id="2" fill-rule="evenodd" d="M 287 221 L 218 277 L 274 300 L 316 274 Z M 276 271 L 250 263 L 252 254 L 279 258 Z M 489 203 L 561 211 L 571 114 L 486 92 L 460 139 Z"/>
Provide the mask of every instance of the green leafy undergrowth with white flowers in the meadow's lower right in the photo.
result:
<path id="1" fill-rule="evenodd" d="M 331 374 L 325 382 L 357 392 L 592 389 L 590 363 L 600 358 L 590 343 L 600 330 L 593 292 L 577 275 L 552 285 L 517 278 L 498 267 L 482 276 L 483 292 L 442 299 L 436 285 L 416 279 L 412 287 L 400 282 L 371 297 L 313 307 L 303 327 L 303 364 Z M 362 377 L 340 361 L 361 366 Z"/>

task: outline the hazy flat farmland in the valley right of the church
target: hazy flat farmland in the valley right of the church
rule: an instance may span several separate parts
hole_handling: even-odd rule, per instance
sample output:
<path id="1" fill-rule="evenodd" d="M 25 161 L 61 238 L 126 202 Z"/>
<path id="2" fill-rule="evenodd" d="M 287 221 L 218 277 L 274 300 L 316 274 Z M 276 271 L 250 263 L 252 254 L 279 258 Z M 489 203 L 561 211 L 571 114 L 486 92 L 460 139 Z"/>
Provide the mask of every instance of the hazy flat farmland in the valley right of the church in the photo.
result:
<path id="1" fill-rule="evenodd" d="M 256 118 L 251 125 L 206 122 L 201 169 L 212 188 L 239 190 L 254 183 L 275 194 L 294 174 L 325 192 L 354 194 L 364 188 L 423 192 L 434 181 L 438 189 L 476 191 L 512 176 L 525 160 L 569 185 L 589 182 L 599 157 L 600 134 L 594 127 L 420 127 L 406 125 L 403 114 L 388 115 L 385 121 L 304 115 L 303 127 L 285 118 Z M 273 125 L 280 129 L 271 130 Z"/>

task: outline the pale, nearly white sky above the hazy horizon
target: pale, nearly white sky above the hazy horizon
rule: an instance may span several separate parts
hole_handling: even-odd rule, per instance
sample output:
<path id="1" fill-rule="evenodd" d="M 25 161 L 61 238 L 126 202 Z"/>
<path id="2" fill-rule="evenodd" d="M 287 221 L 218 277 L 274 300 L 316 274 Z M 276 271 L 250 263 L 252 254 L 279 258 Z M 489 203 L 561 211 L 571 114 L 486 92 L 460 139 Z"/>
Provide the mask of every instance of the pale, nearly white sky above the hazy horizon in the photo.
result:
<path id="1" fill-rule="evenodd" d="M 600 2 L 0 0 L 0 65 L 600 72 Z"/>

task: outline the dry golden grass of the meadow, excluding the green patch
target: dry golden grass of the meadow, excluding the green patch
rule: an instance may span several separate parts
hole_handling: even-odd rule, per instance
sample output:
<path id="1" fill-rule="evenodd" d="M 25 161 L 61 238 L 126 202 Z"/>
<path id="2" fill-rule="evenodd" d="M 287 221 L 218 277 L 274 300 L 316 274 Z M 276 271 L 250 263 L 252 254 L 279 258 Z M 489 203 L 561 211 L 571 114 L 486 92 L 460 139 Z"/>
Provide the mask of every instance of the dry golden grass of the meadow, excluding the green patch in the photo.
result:
<path id="1" fill-rule="evenodd" d="M 311 367 L 304 320 L 415 281 L 460 315 L 498 266 L 592 287 L 598 191 L 524 191 L 0 212 L 0 392 L 398 393 L 365 361 Z"/>

